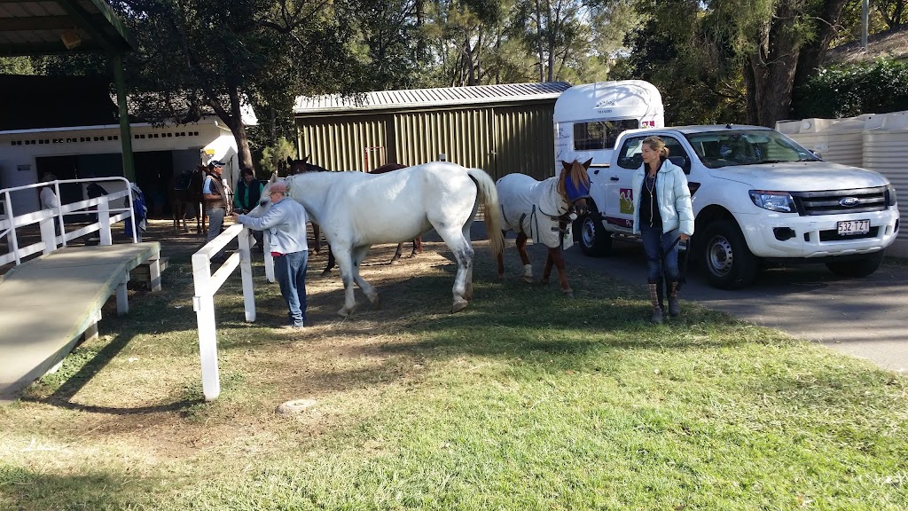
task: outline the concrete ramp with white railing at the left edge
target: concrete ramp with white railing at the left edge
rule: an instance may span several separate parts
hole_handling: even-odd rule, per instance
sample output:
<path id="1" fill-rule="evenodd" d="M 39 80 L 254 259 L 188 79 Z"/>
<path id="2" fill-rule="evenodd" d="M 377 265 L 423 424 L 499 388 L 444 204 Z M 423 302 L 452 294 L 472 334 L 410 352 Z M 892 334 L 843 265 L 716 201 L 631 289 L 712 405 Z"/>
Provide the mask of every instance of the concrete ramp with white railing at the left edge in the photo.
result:
<path id="1" fill-rule="evenodd" d="M 157 242 L 66 247 L 0 276 L 0 400 L 63 360 L 82 338 L 97 335 L 101 307 L 117 295 L 126 314 L 129 272 L 150 261 L 152 288 L 160 272 Z"/>

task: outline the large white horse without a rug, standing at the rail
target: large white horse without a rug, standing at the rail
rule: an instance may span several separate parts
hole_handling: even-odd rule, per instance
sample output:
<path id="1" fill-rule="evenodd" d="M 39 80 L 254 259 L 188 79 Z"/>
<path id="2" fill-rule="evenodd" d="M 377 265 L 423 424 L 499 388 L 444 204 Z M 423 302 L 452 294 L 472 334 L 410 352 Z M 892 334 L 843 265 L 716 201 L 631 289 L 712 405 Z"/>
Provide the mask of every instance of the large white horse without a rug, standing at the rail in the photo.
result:
<path id="1" fill-rule="evenodd" d="M 268 192 L 277 175 L 262 191 L 263 200 L 250 215 L 262 215 L 271 202 Z M 388 174 L 361 172 L 308 172 L 285 178 L 290 196 L 321 225 L 341 268 L 344 306 L 349 316 L 356 308 L 353 283 L 380 305 L 379 293 L 360 276 L 360 264 L 371 245 L 400 243 L 424 235 L 433 227 L 457 259 L 454 304 L 451 312 L 467 306 L 473 295 L 473 247 L 469 227 L 479 205 L 485 205 L 492 252 L 501 253 L 503 235 L 498 225 L 495 183 L 479 168 L 447 162 L 411 166 Z"/>

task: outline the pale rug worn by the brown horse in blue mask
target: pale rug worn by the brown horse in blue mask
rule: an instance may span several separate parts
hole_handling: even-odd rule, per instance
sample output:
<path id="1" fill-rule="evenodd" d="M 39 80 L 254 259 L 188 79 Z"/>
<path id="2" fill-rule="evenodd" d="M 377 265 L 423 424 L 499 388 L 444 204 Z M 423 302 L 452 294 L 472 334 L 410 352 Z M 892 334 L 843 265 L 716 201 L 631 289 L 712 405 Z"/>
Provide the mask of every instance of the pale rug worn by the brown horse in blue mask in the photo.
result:
<path id="1" fill-rule="evenodd" d="M 570 206 L 558 194 L 558 177 L 537 181 L 525 174 L 508 174 L 495 183 L 501 205 L 502 229 L 523 233 L 549 248 L 567 249 L 573 244 L 568 228 L 558 225 Z"/>

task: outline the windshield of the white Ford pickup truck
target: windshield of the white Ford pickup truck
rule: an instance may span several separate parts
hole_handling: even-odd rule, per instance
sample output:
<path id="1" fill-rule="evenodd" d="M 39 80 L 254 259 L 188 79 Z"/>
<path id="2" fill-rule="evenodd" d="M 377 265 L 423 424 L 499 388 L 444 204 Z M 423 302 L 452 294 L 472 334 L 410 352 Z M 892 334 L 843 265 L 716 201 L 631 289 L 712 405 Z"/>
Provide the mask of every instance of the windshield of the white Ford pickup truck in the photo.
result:
<path id="1" fill-rule="evenodd" d="M 816 155 L 775 130 L 726 129 L 685 136 L 709 168 L 819 161 Z"/>

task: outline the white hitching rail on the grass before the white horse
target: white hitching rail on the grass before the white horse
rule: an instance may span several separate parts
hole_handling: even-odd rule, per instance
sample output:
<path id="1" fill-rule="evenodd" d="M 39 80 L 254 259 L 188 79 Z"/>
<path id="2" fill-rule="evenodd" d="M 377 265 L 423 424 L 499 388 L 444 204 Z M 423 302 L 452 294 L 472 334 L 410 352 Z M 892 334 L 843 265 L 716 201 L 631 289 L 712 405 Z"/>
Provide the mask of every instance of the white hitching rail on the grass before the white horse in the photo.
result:
<path id="1" fill-rule="evenodd" d="M 212 274 L 212 256 L 220 253 L 233 241 L 233 238 L 238 238 L 240 250 L 230 255 Z M 264 244 L 265 278 L 268 282 L 274 282 L 274 259 L 271 257 L 267 239 Z M 255 291 L 252 286 L 251 256 L 254 245 L 255 238 L 252 237 L 252 231 L 241 224 L 234 224 L 202 246 L 198 252 L 192 254 L 192 283 L 195 286 L 192 309 L 195 311 L 196 322 L 199 326 L 199 358 L 202 362 L 202 393 L 205 401 L 212 401 L 221 395 L 217 330 L 214 325 L 214 295 L 237 266 L 240 266 L 242 275 L 242 301 L 246 321 L 250 323 L 255 321 Z"/>

